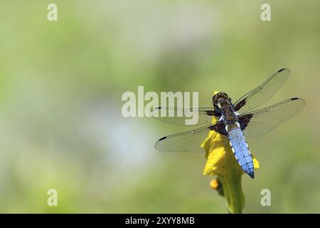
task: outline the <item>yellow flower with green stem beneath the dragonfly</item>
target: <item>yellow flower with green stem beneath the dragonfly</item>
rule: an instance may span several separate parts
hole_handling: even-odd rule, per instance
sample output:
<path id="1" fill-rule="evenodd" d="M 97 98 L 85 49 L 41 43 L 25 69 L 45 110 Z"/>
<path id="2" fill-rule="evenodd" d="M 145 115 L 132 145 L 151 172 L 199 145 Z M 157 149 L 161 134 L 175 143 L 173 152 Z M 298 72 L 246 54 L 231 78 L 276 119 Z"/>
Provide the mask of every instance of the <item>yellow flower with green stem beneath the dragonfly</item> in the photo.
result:
<path id="1" fill-rule="evenodd" d="M 212 122 L 216 121 L 217 119 L 213 118 Z M 212 137 L 213 135 L 215 137 Z M 245 206 L 245 195 L 241 188 L 241 176 L 244 172 L 235 160 L 228 137 L 210 131 L 201 147 L 206 150 L 207 159 L 203 175 L 217 176 L 210 182 L 210 187 L 225 197 L 230 213 L 241 213 Z M 259 168 L 259 162 L 255 157 L 253 166 L 255 169 Z"/>

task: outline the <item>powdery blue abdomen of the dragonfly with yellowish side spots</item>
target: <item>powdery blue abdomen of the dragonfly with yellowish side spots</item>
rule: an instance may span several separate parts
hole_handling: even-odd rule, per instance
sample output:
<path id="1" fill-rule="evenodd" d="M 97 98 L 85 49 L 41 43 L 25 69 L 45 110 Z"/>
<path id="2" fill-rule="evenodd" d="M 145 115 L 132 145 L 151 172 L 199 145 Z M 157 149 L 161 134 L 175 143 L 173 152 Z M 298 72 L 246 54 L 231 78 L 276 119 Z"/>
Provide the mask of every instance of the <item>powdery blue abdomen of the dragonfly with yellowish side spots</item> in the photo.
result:
<path id="1" fill-rule="evenodd" d="M 238 164 L 247 175 L 252 179 L 255 178 L 252 156 L 239 123 L 235 122 L 231 125 L 227 125 L 226 130 L 230 147 L 233 150 L 233 155 L 235 155 Z"/>

